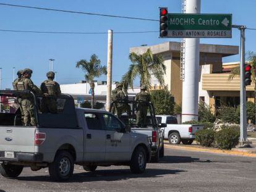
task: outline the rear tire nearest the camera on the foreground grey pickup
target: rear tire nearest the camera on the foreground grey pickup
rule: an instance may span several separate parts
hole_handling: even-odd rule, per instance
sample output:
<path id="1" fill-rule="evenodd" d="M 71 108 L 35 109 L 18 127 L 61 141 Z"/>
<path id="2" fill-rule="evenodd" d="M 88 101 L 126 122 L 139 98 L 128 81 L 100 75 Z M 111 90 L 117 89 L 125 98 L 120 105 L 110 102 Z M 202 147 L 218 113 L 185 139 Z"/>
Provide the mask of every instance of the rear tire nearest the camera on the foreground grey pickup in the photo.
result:
<path id="1" fill-rule="evenodd" d="M 66 181 L 74 172 L 74 159 L 67 151 L 59 151 L 54 162 L 49 164 L 49 175 L 55 181 Z"/>

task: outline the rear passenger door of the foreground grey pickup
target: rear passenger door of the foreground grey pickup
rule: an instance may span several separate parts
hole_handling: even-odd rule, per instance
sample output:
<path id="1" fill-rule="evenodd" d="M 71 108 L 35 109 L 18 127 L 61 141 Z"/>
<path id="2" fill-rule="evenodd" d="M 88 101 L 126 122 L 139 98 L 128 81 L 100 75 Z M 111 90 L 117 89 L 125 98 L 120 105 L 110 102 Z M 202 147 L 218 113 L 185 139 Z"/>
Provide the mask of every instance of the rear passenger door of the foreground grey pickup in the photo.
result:
<path id="1" fill-rule="evenodd" d="M 101 115 L 85 112 L 85 152 L 83 159 L 87 162 L 105 161 L 106 131 L 103 129 Z"/>

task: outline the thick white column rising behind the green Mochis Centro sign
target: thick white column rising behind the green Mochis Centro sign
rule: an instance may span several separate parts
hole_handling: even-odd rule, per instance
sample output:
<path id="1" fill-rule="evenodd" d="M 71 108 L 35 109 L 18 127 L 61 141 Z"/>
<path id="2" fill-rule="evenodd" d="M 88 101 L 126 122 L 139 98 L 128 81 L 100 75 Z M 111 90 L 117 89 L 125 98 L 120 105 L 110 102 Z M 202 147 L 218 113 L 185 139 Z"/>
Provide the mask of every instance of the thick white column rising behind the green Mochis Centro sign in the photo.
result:
<path id="1" fill-rule="evenodd" d="M 201 0 L 186 0 L 186 14 L 200 14 Z M 199 38 L 186 38 L 182 122 L 198 120 Z"/>

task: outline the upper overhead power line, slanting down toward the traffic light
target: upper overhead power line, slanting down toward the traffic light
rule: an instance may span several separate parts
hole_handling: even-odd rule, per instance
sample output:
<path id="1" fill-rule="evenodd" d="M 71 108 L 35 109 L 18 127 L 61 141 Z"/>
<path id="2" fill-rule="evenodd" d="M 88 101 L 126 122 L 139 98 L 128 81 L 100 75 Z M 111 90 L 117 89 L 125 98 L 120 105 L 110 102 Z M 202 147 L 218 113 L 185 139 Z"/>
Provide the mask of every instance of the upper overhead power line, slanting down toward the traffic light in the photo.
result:
<path id="1" fill-rule="evenodd" d="M 120 15 L 96 14 L 96 13 L 92 13 L 92 12 L 80 12 L 80 11 L 75 11 L 75 10 L 50 9 L 50 8 L 45 8 L 45 7 L 22 6 L 22 5 L 7 4 L 7 3 L 0 3 L 0 5 L 1 6 L 28 8 L 28 9 L 51 10 L 51 11 L 58 11 L 58 12 L 67 12 L 67 13 L 72 13 L 72 14 L 97 15 L 97 16 L 102 16 L 102 17 L 116 17 L 116 18 L 122 18 L 122 19 L 136 19 L 136 20 L 148 20 L 148 21 L 153 21 L 153 22 L 159 22 L 159 20 L 155 20 L 155 19 L 146 19 L 146 18 L 139 18 L 139 17 L 126 17 L 126 16 L 120 16 Z"/>

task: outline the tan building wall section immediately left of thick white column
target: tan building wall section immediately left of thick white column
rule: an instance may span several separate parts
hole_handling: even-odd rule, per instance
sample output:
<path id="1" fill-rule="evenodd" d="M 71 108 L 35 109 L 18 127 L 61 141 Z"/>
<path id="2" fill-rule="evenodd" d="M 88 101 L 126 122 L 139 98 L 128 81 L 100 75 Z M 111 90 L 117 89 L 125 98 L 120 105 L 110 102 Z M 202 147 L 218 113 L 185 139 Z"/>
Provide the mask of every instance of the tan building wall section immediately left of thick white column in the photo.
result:
<path id="1" fill-rule="evenodd" d="M 181 105 L 182 102 L 182 80 L 180 79 L 180 60 L 171 61 L 171 94 L 174 101 Z"/>

